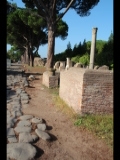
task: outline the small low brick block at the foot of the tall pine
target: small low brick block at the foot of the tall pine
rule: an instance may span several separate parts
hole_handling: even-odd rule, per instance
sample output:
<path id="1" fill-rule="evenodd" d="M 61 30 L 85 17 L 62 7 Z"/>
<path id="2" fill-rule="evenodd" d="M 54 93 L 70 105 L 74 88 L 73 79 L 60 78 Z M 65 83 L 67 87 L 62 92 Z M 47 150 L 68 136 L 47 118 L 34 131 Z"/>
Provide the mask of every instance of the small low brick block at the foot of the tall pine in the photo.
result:
<path id="1" fill-rule="evenodd" d="M 54 76 L 49 75 L 48 71 L 43 73 L 42 84 L 48 88 L 58 87 L 59 74 Z"/>

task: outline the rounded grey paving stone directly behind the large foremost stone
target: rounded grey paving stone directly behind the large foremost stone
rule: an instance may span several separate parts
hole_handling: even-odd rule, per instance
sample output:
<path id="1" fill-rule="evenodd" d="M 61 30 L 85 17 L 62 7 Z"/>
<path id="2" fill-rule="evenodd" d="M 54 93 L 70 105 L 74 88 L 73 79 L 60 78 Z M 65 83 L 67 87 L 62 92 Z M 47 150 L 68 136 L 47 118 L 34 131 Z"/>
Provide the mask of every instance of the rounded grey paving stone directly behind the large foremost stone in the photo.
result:
<path id="1" fill-rule="evenodd" d="M 31 135 L 30 133 L 20 133 L 19 134 L 19 142 L 24 143 L 33 143 L 38 139 L 37 135 Z"/>

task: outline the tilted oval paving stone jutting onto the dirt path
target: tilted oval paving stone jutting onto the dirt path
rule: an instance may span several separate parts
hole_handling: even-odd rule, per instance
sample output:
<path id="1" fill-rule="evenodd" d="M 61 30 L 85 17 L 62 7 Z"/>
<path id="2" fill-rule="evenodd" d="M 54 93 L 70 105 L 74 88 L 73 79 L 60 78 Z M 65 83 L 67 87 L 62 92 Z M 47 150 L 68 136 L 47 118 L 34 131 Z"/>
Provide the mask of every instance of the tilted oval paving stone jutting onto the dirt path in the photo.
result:
<path id="1" fill-rule="evenodd" d="M 35 133 L 38 135 L 38 137 L 42 138 L 43 140 L 50 140 L 51 137 L 48 133 L 41 131 L 40 129 L 36 129 Z"/>

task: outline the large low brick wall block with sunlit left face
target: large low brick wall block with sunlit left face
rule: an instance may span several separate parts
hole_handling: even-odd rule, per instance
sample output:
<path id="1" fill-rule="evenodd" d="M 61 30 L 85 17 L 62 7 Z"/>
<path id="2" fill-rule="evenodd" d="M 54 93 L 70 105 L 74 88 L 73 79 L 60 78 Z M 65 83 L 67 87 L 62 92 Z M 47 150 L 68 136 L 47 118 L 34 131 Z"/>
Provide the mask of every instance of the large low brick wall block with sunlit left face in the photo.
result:
<path id="1" fill-rule="evenodd" d="M 60 73 L 59 95 L 76 113 L 113 113 L 113 73 L 70 68 Z"/>

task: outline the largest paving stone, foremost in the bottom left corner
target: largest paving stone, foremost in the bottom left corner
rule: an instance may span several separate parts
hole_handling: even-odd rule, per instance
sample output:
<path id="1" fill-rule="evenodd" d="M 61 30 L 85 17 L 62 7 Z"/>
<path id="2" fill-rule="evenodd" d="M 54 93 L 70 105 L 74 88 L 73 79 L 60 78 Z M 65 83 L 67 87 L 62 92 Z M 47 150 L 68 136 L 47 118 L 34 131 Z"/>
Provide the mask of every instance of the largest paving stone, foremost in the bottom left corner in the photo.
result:
<path id="1" fill-rule="evenodd" d="M 15 160 L 32 160 L 36 155 L 36 149 L 29 143 L 7 144 L 7 157 Z"/>

